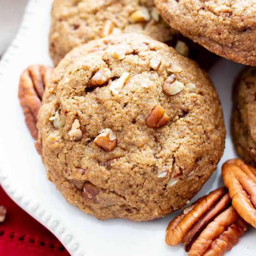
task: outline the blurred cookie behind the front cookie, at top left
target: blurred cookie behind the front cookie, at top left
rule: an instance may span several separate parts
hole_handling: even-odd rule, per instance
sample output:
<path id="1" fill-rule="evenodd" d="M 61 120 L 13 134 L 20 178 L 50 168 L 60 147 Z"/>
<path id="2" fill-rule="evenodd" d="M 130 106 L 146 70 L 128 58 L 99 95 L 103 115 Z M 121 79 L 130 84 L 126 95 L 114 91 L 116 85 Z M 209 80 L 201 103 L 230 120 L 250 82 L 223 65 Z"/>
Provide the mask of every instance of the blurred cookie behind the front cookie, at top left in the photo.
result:
<path id="1" fill-rule="evenodd" d="M 54 0 L 50 54 L 57 65 L 74 47 L 122 32 L 162 42 L 177 33 L 162 20 L 153 0 Z"/>

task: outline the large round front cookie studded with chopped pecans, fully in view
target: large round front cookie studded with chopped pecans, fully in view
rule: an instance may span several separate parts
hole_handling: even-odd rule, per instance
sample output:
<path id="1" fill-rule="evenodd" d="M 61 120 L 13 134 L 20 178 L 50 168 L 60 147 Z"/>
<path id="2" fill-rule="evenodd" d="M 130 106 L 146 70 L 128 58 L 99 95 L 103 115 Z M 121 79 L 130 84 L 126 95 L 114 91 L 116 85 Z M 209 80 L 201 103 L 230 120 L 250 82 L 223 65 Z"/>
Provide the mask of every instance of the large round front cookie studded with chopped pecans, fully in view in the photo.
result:
<path id="1" fill-rule="evenodd" d="M 216 169 L 225 138 L 206 72 L 142 34 L 68 53 L 46 87 L 38 130 L 48 178 L 102 220 L 182 208 Z"/>

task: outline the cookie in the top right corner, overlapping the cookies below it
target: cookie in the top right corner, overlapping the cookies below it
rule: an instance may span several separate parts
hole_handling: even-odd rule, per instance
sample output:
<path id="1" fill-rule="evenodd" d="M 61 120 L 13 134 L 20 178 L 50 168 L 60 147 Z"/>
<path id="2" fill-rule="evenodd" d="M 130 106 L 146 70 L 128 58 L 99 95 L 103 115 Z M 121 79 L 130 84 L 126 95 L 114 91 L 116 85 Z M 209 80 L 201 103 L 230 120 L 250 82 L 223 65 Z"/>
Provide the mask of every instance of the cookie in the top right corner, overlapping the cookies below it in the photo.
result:
<path id="1" fill-rule="evenodd" d="M 171 27 L 209 51 L 256 66 L 256 5 L 253 1 L 155 0 Z"/>

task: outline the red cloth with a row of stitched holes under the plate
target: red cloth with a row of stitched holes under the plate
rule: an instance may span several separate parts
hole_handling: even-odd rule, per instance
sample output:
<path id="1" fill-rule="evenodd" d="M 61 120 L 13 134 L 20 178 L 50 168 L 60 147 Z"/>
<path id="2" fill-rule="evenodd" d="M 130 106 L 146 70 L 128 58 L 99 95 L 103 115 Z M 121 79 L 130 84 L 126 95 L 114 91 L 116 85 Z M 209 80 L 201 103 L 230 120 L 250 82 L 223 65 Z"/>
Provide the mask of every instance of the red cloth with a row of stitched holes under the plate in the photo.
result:
<path id="1" fill-rule="evenodd" d="M 7 209 L 0 223 L 0 256 L 69 256 L 60 241 L 15 204 L 0 186 L 0 205 Z"/>

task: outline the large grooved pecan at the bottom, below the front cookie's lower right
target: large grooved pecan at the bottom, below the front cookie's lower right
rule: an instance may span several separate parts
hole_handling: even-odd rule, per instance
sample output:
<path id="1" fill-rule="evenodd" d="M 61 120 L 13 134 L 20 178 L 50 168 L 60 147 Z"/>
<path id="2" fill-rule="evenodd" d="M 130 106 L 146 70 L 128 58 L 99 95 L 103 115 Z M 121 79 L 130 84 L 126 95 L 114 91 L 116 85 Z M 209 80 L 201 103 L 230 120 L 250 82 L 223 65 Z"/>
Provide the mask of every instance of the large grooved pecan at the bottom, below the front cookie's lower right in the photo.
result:
<path id="1" fill-rule="evenodd" d="M 236 210 L 230 206 L 226 188 L 219 188 L 199 198 L 171 221 L 166 230 L 166 243 L 183 243 L 189 256 L 223 255 L 247 229 Z"/>

